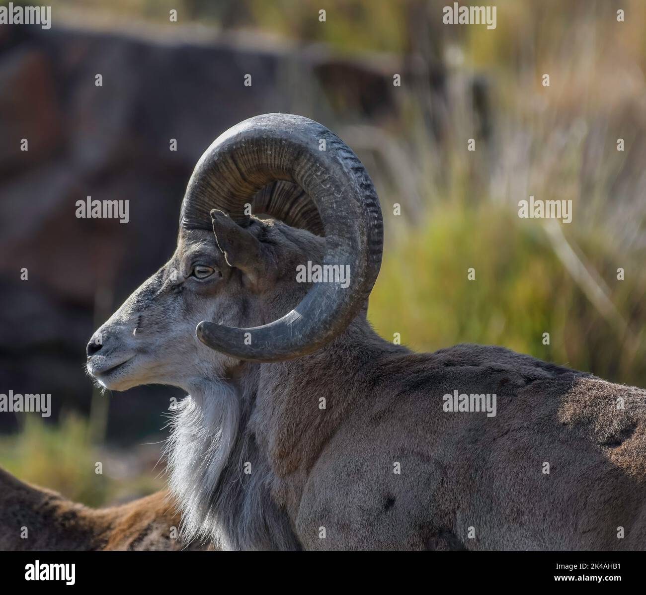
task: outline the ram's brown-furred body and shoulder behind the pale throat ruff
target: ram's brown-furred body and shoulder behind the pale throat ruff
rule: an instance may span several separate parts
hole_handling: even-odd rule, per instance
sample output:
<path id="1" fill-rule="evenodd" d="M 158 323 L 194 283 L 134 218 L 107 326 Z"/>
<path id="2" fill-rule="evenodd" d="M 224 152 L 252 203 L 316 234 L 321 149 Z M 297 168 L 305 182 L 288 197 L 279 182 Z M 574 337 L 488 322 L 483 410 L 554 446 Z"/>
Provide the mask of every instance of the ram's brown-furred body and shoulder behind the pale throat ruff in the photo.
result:
<path id="1" fill-rule="evenodd" d="M 646 391 L 503 348 L 397 355 L 366 327 L 260 395 L 253 432 L 304 547 L 646 548 Z M 497 393 L 497 416 L 444 412 L 455 388 Z"/>

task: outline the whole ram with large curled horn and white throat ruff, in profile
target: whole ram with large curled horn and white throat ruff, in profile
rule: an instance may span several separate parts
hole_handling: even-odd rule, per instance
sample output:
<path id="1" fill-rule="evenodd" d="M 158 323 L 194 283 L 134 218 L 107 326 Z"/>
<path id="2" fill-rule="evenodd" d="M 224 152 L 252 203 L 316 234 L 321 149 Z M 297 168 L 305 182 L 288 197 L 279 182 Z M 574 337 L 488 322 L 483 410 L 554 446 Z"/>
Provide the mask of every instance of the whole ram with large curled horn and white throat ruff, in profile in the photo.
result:
<path id="1" fill-rule="evenodd" d="M 169 440 L 187 534 L 234 549 L 646 547 L 645 391 L 499 347 L 380 339 L 366 306 L 381 255 L 370 177 L 322 125 L 257 116 L 203 154 L 171 260 L 87 346 L 107 388 L 189 393 Z M 307 262 L 349 266 L 349 286 L 298 282 Z M 468 395 L 497 396 L 495 416 L 464 412 Z"/>

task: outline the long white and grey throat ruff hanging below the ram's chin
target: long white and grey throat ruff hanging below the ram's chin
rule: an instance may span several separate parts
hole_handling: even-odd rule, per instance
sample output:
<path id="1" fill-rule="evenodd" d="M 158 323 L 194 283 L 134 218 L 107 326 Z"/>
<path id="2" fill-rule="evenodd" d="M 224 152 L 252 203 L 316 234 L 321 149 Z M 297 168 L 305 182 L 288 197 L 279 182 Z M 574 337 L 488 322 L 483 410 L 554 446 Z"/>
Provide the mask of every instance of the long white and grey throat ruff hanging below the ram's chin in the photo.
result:
<path id="1" fill-rule="evenodd" d="M 169 486 L 185 538 L 223 549 L 296 549 L 289 520 L 271 497 L 271 468 L 256 443 L 258 364 L 191 388 L 172 420 Z"/>

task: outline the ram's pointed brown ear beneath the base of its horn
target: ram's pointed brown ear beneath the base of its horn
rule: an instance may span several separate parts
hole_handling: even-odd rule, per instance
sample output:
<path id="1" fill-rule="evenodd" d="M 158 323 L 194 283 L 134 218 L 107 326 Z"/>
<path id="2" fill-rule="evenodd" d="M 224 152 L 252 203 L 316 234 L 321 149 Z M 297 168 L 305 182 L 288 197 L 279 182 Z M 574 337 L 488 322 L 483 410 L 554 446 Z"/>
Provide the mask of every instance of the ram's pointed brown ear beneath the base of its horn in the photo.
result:
<path id="1" fill-rule="evenodd" d="M 255 286 L 262 286 L 267 278 L 267 256 L 262 244 L 224 211 L 213 209 L 211 221 L 215 241 L 227 264 L 243 271 Z"/>

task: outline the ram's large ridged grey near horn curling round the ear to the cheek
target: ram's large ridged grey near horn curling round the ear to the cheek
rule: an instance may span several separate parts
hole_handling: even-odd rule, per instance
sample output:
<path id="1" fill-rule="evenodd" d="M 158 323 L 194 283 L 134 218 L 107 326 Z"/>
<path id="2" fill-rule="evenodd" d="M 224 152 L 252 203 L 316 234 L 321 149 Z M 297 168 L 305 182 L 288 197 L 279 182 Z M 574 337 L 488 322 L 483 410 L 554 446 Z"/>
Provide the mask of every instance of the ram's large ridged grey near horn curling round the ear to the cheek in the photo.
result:
<path id="1" fill-rule="evenodd" d="M 339 137 L 302 116 L 256 116 L 214 141 L 189 181 L 182 225 L 208 228 L 213 208 L 244 225 L 245 204 L 275 180 L 298 184 L 317 205 L 326 236 L 322 264 L 349 265 L 349 285 L 317 283 L 295 309 L 264 326 L 198 324 L 204 344 L 239 359 L 292 359 L 333 339 L 362 308 L 381 264 L 383 222 L 368 172 Z"/>

